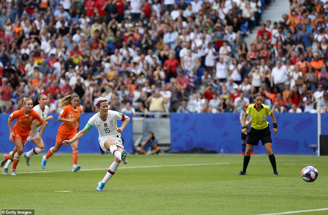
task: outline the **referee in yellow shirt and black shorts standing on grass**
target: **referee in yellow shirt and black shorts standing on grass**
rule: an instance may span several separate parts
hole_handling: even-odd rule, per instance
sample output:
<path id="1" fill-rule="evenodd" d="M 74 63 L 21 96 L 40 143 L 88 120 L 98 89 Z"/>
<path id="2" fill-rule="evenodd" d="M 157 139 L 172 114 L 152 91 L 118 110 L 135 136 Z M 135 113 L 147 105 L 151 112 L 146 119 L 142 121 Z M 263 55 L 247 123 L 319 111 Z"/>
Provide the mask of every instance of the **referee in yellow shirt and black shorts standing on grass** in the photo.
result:
<path id="1" fill-rule="evenodd" d="M 248 134 L 247 139 L 247 146 L 246 146 L 246 152 L 244 156 L 244 163 L 243 168 L 237 175 L 246 175 L 246 169 L 248 166 L 248 163 L 251 159 L 251 153 L 253 152 L 254 145 L 258 145 L 258 141 L 261 140 L 262 145 L 265 146 L 265 150 L 267 150 L 272 168 L 273 168 L 273 176 L 278 176 L 277 167 L 276 167 L 276 158 L 272 152 L 272 139 L 271 139 L 271 132 L 269 123 L 267 121 L 268 114 L 271 116 L 273 121 L 273 134 L 277 133 L 277 123 L 276 123 L 276 117 L 272 113 L 270 107 L 268 105 L 262 104 L 263 97 L 261 94 L 256 94 L 254 97 L 254 104 L 250 104 L 247 107 L 247 111 L 243 116 L 242 119 L 242 127 L 241 131 L 243 134 L 247 134 L 247 130 L 245 127 L 245 122 L 248 115 L 252 116 L 252 127 L 251 131 Z"/>

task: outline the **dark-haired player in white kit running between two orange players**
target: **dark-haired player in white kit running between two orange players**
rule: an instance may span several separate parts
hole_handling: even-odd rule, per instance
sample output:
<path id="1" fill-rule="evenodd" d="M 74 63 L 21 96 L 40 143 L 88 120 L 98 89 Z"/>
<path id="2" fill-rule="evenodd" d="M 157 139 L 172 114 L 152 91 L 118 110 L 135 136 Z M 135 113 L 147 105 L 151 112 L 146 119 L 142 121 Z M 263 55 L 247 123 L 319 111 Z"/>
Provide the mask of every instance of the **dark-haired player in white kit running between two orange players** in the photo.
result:
<path id="1" fill-rule="evenodd" d="M 40 94 L 36 101 L 33 102 L 33 110 L 36 111 L 40 116 L 45 121 L 52 120 L 53 116 L 48 116 L 49 112 L 49 107 L 46 105 L 47 104 L 47 96 L 44 94 Z M 37 120 L 34 120 L 32 123 L 32 130 L 30 131 L 29 137 L 27 138 L 27 141 L 31 141 L 36 145 L 36 147 L 32 148 L 29 152 L 24 153 L 24 157 L 26 159 L 26 164 L 29 166 L 30 165 L 30 157 L 33 155 L 37 155 L 39 153 L 42 153 L 43 150 L 45 150 L 45 143 L 43 142 L 42 138 L 40 141 L 36 141 L 36 137 L 39 135 L 39 129 L 42 124 L 40 124 Z M 12 155 L 15 155 L 16 153 L 16 148 L 13 149 L 12 152 L 10 152 Z M 12 160 L 8 160 L 6 163 L 3 174 L 8 173 L 8 168 L 10 164 L 12 163 Z"/>

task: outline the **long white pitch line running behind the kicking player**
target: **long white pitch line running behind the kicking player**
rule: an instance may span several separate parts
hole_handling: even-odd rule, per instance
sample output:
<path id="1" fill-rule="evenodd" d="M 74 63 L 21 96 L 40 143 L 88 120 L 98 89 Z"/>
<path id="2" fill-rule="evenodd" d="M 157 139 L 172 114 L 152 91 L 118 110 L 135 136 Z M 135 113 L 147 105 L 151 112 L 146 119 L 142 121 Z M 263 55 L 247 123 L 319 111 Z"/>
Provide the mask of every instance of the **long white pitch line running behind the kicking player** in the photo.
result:
<path id="1" fill-rule="evenodd" d="M 229 163 L 194 163 L 194 164 L 176 164 L 176 165 L 156 165 L 156 166 L 128 166 L 119 167 L 119 169 L 137 169 L 137 168 L 154 168 L 154 167 L 174 167 L 174 166 L 202 166 L 202 165 L 224 165 Z M 92 171 L 92 170 L 106 170 L 108 168 L 98 169 L 80 169 L 79 171 Z M 29 174 L 29 173 L 59 173 L 61 171 L 72 171 L 72 170 L 51 170 L 51 171 L 25 171 L 17 174 Z"/>

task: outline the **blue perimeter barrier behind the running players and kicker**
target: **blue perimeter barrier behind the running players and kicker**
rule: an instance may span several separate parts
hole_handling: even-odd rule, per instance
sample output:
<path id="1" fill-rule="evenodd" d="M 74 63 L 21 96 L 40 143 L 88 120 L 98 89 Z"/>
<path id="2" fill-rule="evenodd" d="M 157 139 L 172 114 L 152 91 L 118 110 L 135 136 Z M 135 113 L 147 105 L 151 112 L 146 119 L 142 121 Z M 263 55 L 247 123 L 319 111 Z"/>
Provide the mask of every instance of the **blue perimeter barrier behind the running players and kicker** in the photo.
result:
<path id="1" fill-rule="evenodd" d="M 80 116 L 80 130 L 84 128 L 87 124 L 90 117 L 93 116 L 94 113 L 84 113 Z M 49 114 L 53 115 L 53 120 L 49 121 L 44 134 L 42 135 L 42 139 L 45 142 L 45 153 L 48 152 L 49 148 L 55 145 L 56 135 L 58 131 L 58 127 L 61 124 L 57 120 L 58 114 Z M 126 126 L 125 130 L 122 132 L 122 139 L 125 146 L 125 149 L 128 153 L 131 153 L 133 150 L 133 132 L 132 132 L 132 115 L 126 114 L 130 117 L 130 122 Z M 14 148 L 13 142 L 9 141 L 9 130 L 8 130 L 8 114 L 0 115 L 0 124 L 2 125 L 2 129 L 0 131 L 0 152 L 8 153 Z M 16 120 L 13 121 L 16 123 Z M 117 126 L 121 126 L 122 121 L 117 121 Z M 79 140 L 78 144 L 78 152 L 80 153 L 100 153 L 101 148 L 98 142 L 98 130 L 97 128 L 92 127 L 91 130 Z M 27 142 L 24 147 L 24 152 L 27 152 L 31 148 L 35 147 L 35 145 L 31 142 Z M 61 146 L 58 150 L 59 153 L 71 153 L 71 146 Z"/>

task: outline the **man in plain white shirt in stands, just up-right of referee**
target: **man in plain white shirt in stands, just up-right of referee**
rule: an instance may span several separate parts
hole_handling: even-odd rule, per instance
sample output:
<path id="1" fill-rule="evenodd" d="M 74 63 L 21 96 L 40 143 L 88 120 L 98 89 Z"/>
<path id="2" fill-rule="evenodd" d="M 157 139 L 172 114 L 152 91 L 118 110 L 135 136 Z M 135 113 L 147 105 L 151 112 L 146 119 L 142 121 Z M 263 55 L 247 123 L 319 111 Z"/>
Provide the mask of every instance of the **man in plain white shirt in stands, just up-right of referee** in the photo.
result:
<path id="1" fill-rule="evenodd" d="M 280 92 L 285 90 L 284 82 L 288 76 L 288 70 L 285 66 L 281 66 L 281 61 L 276 62 L 276 67 L 271 72 L 271 87 L 276 86 L 280 89 Z"/>

